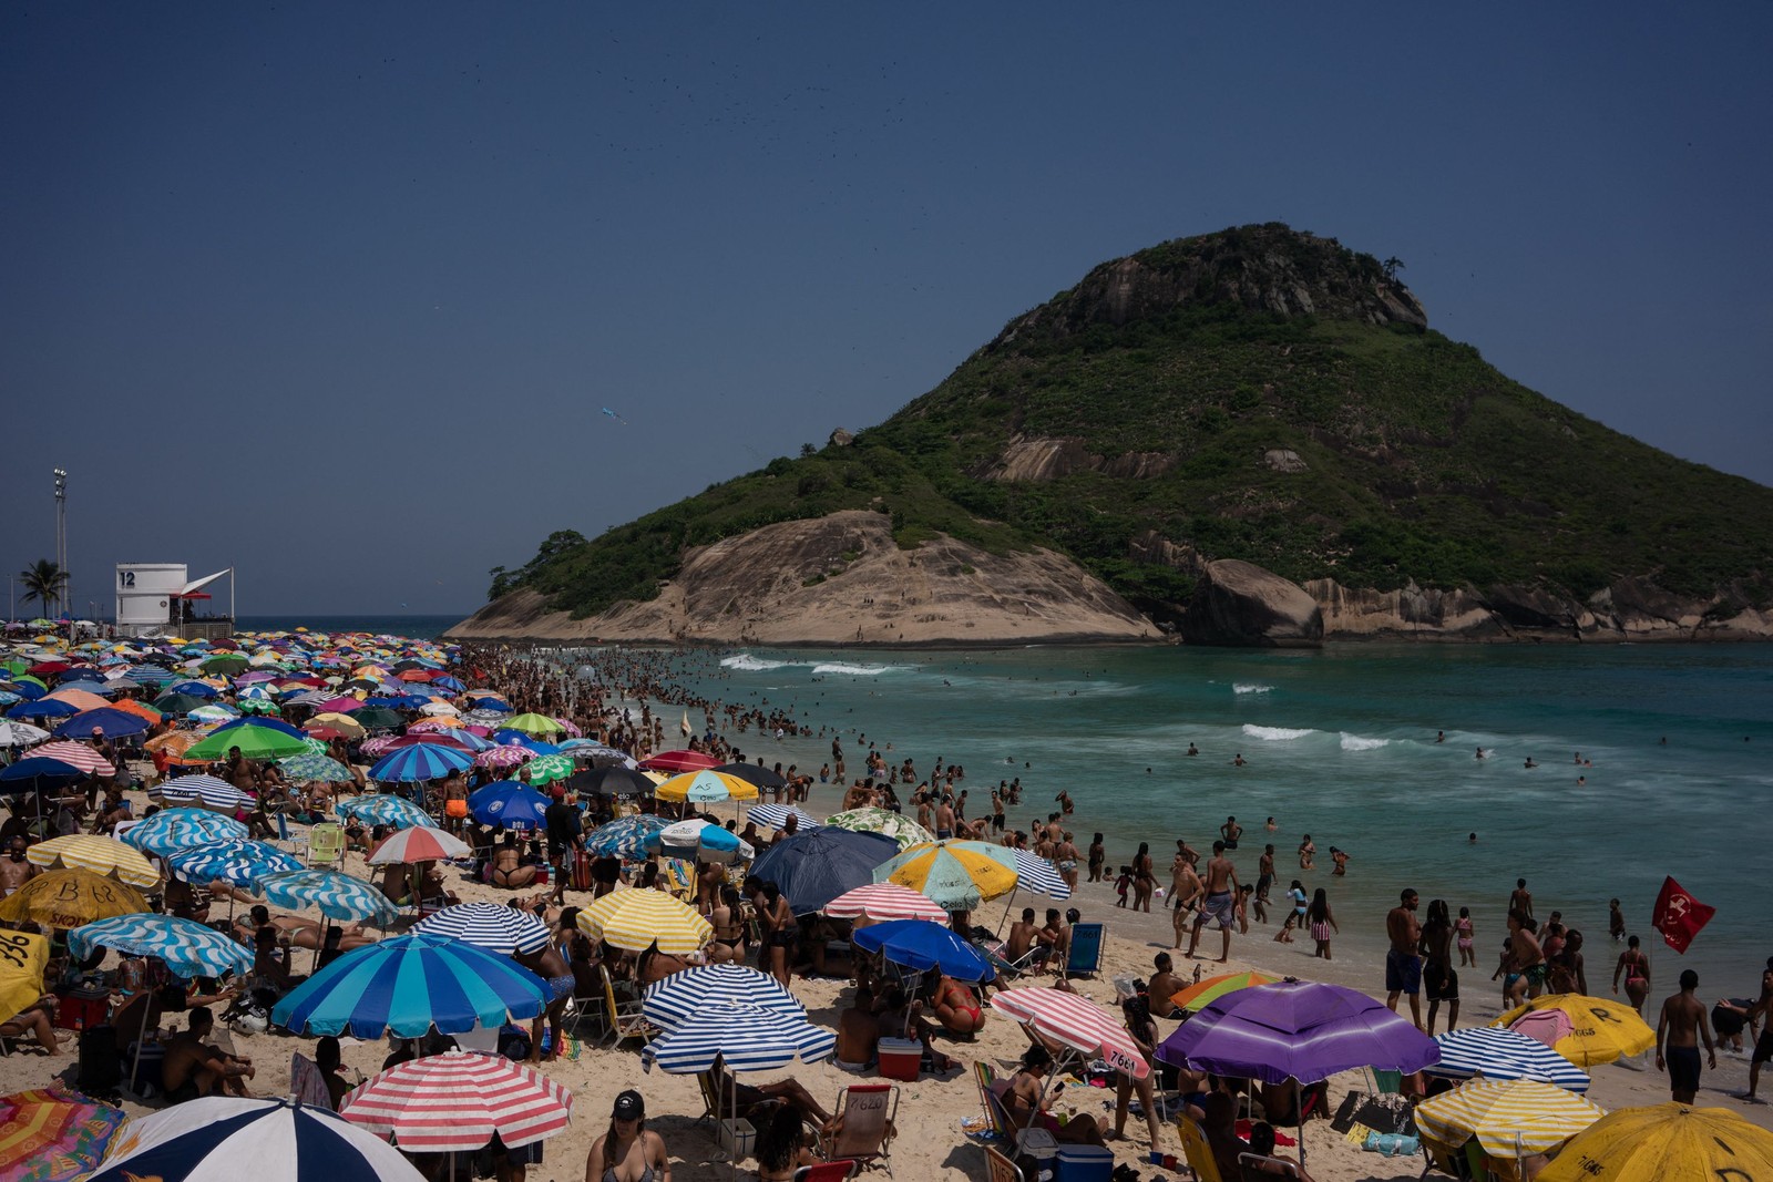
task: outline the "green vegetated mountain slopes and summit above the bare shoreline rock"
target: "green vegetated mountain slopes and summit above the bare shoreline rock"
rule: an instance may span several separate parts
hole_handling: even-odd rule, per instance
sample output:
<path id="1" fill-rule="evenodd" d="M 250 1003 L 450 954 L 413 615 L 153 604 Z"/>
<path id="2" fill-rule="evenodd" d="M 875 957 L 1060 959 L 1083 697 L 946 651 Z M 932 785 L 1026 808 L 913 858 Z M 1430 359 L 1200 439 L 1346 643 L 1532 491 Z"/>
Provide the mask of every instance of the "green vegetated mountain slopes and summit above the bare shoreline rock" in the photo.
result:
<path id="1" fill-rule="evenodd" d="M 1507 379 L 1425 328 L 1392 271 L 1282 225 L 1103 264 L 849 445 L 594 540 L 557 533 L 523 569 L 495 571 L 493 597 L 534 587 L 594 615 L 656 595 L 684 548 L 876 509 L 901 546 L 1051 546 L 1160 618 L 1191 579 L 1151 560 L 1154 540 L 1379 590 L 1527 583 L 1582 599 L 1636 576 L 1768 603 L 1773 489 Z M 1000 478 L 1016 441 L 1064 459 Z M 1273 452 L 1303 470 L 1277 470 Z"/>

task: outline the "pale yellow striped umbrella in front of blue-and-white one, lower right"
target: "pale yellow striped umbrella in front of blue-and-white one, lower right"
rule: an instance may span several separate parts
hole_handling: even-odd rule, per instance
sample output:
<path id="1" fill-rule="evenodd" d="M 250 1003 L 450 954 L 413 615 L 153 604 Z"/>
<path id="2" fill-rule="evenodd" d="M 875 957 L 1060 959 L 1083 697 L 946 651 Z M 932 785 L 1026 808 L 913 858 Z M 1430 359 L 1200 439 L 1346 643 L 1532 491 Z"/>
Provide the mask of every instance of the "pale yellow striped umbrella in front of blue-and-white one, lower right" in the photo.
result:
<path id="1" fill-rule="evenodd" d="M 1557 1148 L 1605 1115 L 1592 1100 L 1537 1079 L 1472 1079 L 1417 1104 L 1417 1129 L 1449 1152 L 1477 1138 L 1491 1157 L 1519 1161 Z"/>

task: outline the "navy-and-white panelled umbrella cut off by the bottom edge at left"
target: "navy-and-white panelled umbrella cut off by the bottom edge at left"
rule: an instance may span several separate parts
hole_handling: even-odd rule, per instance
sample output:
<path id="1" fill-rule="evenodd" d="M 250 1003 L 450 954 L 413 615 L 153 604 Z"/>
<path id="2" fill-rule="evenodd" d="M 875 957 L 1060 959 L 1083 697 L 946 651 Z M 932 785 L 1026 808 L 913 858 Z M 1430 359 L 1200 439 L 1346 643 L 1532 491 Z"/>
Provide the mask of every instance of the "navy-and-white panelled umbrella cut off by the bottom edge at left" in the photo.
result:
<path id="1" fill-rule="evenodd" d="M 137 1116 L 85 1182 L 422 1182 L 367 1129 L 296 1100 L 206 1095 Z"/>

